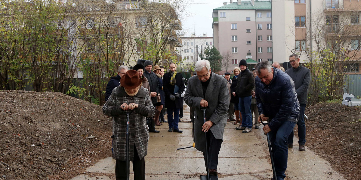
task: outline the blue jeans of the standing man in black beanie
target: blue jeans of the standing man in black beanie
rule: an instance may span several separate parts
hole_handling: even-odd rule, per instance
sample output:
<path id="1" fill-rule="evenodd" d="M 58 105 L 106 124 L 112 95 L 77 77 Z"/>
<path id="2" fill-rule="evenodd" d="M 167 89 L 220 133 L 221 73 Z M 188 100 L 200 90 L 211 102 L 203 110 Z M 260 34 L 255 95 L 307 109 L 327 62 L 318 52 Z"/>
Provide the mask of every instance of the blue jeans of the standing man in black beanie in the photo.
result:
<path id="1" fill-rule="evenodd" d="M 239 112 L 242 114 L 242 127 L 252 129 L 252 113 L 251 113 L 252 96 L 239 98 Z"/>

